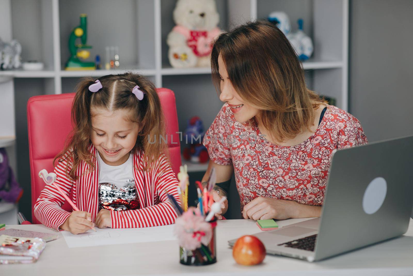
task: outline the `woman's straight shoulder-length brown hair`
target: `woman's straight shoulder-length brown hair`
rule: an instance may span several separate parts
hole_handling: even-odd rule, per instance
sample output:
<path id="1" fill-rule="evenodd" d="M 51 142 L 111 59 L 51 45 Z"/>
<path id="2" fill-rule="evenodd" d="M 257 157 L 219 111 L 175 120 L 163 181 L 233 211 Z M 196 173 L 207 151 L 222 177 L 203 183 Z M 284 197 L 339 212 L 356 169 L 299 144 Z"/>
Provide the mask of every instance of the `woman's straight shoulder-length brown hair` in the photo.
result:
<path id="1" fill-rule="evenodd" d="M 268 21 L 249 22 L 218 36 L 211 53 L 218 93 L 218 56 L 239 96 L 260 110 L 258 120 L 278 142 L 313 125 L 322 102 L 309 90 L 301 62 L 285 35 Z"/>

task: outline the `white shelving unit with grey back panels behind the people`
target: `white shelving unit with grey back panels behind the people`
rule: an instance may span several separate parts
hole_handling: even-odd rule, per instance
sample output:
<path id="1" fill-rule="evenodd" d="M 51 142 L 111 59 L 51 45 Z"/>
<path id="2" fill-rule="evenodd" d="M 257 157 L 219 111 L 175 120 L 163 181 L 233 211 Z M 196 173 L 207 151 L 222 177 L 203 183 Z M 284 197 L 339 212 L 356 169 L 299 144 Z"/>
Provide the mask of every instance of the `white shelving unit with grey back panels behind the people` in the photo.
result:
<path id="1" fill-rule="evenodd" d="M 290 15 L 293 30 L 297 29 L 297 19 L 304 17 L 304 31 L 313 38 L 315 49 L 313 57 L 303 63 L 309 87 L 336 98 L 339 108 L 348 109 L 348 0 L 216 2 L 221 16 L 219 26 L 224 30 L 264 18 L 274 10 Z M 28 98 L 42 94 L 41 91 L 43 94 L 72 92 L 80 77 L 125 71 L 139 72 L 158 87 L 175 91 L 180 130 L 185 129 L 186 120 L 193 115 L 198 115 L 205 127 L 209 127 L 222 106 L 211 84 L 211 70 L 176 69 L 167 60 L 165 41 L 174 25 L 175 3 L 174 0 L 0 0 L 0 37 L 4 41 L 12 38 L 21 41 L 23 58 L 41 60 L 46 68 L 38 72 L 0 71 L 0 116 L 7 118 L 0 123 L 0 146 L 10 145 L 9 139 L 16 136 L 15 108 L 24 110 L 21 105 L 26 104 L 20 102 L 20 95 Z M 119 70 L 63 70 L 69 53 L 69 33 L 78 25 L 81 13 L 88 14 L 91 57 L 99 54 L 104 62 L 104 47 L 117 45 L 121 58 Z M 22 91 L 25 87 L 33 87 L 37 92 L 27 94 Z M 19 99 L 16 104 L 15 99 Z M 206 165 L 191 164 L 190 168 L 202 171 Z"/>

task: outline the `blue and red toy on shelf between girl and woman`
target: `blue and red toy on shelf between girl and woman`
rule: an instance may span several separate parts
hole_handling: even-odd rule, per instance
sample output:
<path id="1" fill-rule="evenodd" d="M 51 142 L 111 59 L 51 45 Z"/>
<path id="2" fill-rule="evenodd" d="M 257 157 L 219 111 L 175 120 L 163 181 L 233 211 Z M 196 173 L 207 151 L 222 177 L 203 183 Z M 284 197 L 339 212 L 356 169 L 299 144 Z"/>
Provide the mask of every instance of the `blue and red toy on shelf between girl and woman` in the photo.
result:
<path id="1" fill-rule="evenodd" d="M 204 138 L 204 125 L 201 119 L 195 116 L 188 120 L 188 127 L 185 130 L 189 148 L 183 150 L 183 158 L 194 163 L 208 162 L 209 155 L 207 148 L 202 144 Z"/>

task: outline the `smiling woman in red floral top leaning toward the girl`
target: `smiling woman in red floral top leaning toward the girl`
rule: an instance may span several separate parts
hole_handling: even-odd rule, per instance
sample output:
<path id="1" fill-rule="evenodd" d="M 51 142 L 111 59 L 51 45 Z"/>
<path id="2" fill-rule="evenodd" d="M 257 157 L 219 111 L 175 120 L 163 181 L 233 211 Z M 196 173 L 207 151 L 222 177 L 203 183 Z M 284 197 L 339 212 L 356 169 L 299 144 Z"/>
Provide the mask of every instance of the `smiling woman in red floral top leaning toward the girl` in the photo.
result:
<path id="1" fill-rule="evenodd" d="M 211 67 L 225 102 L 204 138 L 211 160 L 202 181 L 216 169 L 214 200 L 235 171 L 244 218 L 320 216 L 332 152 L 367 143 L 360 122 L 306 87 L 292 46 L 269 22 L 221 34 Z"/>

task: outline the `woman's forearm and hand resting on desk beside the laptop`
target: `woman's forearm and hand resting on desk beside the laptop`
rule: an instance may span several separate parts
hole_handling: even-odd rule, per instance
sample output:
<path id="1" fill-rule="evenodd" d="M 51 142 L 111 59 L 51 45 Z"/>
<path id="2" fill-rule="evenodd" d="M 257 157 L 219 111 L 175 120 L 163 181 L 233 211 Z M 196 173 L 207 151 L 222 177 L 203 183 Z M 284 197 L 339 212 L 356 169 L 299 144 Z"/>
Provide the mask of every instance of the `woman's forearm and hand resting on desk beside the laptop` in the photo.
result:
<path id="1" fill-rule="evenodd" d="M 244 206 L 242 216 L 253 220 L 315 218 L 321 214 L 321 206 L 300 204 L 293 200 L 257 197 Z"/>

